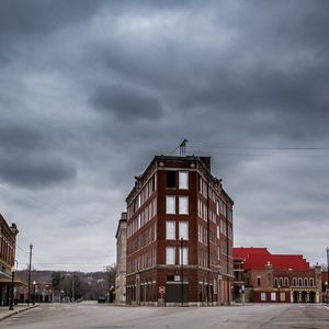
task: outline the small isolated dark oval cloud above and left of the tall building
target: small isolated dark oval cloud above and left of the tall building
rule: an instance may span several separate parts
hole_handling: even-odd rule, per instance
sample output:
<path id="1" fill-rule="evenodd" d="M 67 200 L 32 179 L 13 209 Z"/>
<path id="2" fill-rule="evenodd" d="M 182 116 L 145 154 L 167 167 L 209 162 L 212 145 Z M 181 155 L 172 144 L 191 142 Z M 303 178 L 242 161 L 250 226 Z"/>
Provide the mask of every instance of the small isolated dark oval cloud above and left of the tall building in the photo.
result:
<path id="1" fill-rule="evenodd" d="M 99 111 L 112 113 L 121 121 L 159 120 L 163 114 L 160 102 L 141 90 L 123 86 L 100 88 L 91 99 Z"/>

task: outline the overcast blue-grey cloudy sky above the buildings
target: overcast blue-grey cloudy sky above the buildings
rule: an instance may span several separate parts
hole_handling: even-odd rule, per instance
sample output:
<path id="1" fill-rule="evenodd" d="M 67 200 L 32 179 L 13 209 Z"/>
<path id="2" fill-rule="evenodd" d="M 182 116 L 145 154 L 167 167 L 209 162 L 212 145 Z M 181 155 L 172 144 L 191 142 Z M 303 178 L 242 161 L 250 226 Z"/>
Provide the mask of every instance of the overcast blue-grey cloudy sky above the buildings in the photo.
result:
<path id="1" fill-rule="evenodd" d="M 19 266 L 115 261 L 125 196 L 189 139 L 235 245 L 329 247 L 329 1 L 0 2 L 0 213 Z"/>

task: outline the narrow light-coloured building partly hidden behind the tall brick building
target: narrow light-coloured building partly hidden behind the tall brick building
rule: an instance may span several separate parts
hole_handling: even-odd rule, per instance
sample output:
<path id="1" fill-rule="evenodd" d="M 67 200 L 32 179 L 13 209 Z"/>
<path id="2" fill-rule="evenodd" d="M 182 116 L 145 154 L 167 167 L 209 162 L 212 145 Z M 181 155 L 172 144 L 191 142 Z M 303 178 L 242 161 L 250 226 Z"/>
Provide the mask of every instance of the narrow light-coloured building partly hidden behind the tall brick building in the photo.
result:
<path id="1" fill-rule="evenodd" d="M 116 230 L 115 303 L 126 303 L 127 213 L 121 214 Z"/>

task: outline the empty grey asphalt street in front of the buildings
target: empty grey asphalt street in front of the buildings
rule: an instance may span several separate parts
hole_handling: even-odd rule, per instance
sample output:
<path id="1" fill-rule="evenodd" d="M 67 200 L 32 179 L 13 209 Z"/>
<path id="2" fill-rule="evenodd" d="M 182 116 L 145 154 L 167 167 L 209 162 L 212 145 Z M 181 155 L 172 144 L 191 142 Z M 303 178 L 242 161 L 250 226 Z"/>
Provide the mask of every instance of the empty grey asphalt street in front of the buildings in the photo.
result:
<path id="1" fill-rule="evenodd" d="M 81 304 L 41 305 L 0 322 L 9 329 L 217 329 L 329 328 L 325 305 L 230 307 L 124 307 Z"/>

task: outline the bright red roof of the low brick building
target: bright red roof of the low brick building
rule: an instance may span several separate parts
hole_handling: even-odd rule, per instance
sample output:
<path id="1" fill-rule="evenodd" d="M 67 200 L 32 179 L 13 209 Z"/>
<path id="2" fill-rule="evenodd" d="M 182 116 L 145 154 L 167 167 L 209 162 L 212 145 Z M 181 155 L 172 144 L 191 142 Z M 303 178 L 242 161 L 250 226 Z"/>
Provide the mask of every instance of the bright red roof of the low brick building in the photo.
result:
<path id="1" fill-rule="evenodd" d="M 302 254 L 272 254 L 266 248 L 234 248 L 234 258 L 243 259 L 245 270 L 263 270 L 268 263 L 272 264 L 273 270 L 310 269 Z"/>

